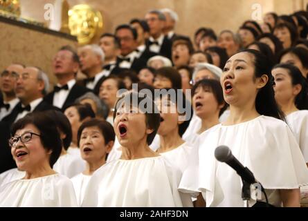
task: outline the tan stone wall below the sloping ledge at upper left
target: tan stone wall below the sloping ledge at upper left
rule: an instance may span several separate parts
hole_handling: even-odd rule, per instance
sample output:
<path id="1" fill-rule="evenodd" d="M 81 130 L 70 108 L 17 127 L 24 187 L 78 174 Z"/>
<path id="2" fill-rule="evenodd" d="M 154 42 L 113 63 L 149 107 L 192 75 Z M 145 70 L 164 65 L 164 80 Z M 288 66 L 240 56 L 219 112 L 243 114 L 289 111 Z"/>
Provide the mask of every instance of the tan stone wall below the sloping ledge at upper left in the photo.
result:
<path id="1" fill-rule="evenodd" d="M 77 47 L 71 39 L 1 21 L 0 30 L 0 70 L 12 63 L 38 66 L 47 73 L 51 84 L 56 82 L 51 64 L 57 50 L 64 45 Z"/>

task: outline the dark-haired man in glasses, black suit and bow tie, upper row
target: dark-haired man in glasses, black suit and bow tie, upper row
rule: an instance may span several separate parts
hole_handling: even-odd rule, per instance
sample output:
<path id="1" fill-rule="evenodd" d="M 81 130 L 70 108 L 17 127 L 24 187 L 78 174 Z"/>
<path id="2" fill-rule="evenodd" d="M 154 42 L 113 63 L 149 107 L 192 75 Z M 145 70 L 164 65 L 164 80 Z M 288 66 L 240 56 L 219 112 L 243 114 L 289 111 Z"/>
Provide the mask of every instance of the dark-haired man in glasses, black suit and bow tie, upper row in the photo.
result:
<path id="1" fill-rule="evenodd" d="M 138 57 L 136 52 L 137 32 L 127 24 L 120 25 L 116 28 L 116 37 L 120 40 L 121 54 L 117 59 L 119 68 L 128 68 L 135 70 L 136 73 L 146 66 L 147 61 Z"/>

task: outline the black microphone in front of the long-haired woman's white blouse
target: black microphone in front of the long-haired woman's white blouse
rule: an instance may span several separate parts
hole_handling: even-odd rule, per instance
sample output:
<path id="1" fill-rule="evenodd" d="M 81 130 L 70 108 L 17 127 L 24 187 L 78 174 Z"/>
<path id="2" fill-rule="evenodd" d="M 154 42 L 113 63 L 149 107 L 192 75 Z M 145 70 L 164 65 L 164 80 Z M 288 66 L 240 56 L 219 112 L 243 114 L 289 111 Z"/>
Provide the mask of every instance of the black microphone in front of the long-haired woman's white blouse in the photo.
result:
<path id="1" fill-rule="evenodd" d="M 237 174 L 242 177 L 242 180 L 246 181 L 248 184 L 257 183 L 253 173 L 247 168 L 244 167 L 231 153 L 230 148 L 228 146 L 218 146 L 215 149 L 215 157 L 220 162 L 225 162 L 229 166 L 231 166 Z"/>

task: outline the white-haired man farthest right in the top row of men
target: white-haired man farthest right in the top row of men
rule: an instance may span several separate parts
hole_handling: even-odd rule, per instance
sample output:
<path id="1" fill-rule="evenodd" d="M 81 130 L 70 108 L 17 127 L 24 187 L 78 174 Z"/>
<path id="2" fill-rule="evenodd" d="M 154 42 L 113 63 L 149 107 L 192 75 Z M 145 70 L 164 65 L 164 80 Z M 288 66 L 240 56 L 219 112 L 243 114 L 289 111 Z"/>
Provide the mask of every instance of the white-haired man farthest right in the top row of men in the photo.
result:
<path id="1" fill-rule="evenodd" d="M 174 27 L 176 23 L 179 21 L 179 17 L 170 8 L 163 8 L 161 9 L 161 12 L 163 12 L 163 15 L 165 15 L 166 21 L 165 26 L 163 27 L 163 32 L 165 35 L 167 35 L 168 39 L 171 41 L 174 39 L 176 34 L 174 33 Z"/>

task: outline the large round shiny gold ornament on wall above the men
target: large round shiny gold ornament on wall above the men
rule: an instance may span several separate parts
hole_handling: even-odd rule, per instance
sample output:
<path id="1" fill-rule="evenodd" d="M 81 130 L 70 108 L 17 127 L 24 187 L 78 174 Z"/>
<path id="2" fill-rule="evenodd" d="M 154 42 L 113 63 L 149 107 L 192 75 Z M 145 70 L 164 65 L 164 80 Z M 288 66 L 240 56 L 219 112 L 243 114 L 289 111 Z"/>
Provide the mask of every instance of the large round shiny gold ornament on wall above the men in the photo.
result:
<path id="1" fill-rule="evenodd" d="M 89 5 L 80 4 L 69 10 L 69 29 L 79 44 L 89 44 L 102 26 L 102 15 Z"/>

